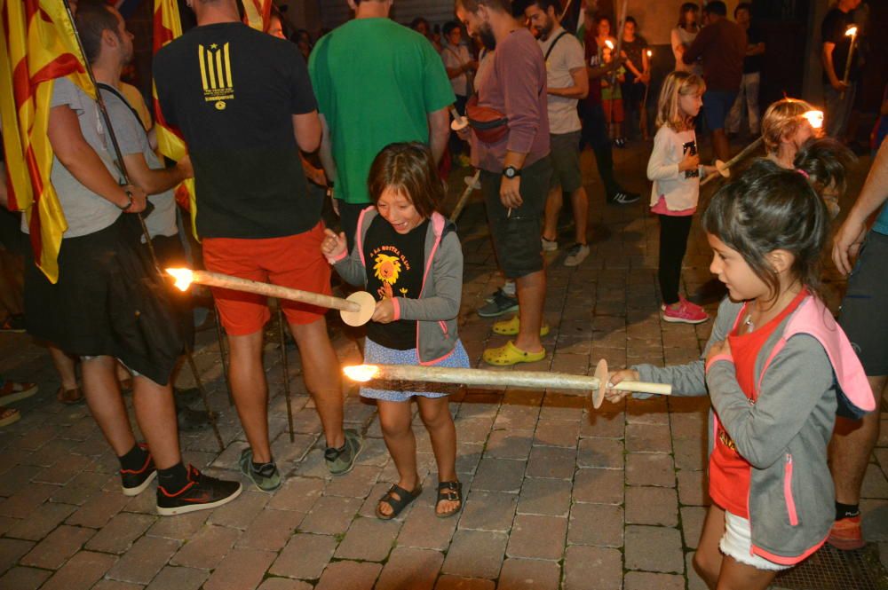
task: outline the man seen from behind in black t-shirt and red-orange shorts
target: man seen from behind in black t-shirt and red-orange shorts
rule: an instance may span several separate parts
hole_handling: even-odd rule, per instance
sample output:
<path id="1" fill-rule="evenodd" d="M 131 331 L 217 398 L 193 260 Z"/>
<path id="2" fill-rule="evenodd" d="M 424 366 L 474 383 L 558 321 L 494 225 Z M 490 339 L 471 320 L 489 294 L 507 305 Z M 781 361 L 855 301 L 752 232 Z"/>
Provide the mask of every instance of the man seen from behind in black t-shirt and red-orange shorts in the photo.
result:
<path id="1" fill-rule="evenodd" d="M 155 57 L 155 84 L 166 122 L 181 130 L 197 190 L 197 231 L 210 271 L 329 294 L 321 256 L 321 198 L 311 196 L 299 149 L 321 140 L 305 59 L 293 43 L 242 24 L 235 0 L 189 0 L 192 28 Z M 268 440 L 262 368 L 266 299 L 213 289 L 231 348 L 234 403 L 250 443 L 244 475 L 266 492 L 281 485 Z M 361 436 L 343 430 L 336 353 L 323 309 L 281 302 L 302 355 L 305 386 L 321 415 L 325 459 L 349 471 Z"/>

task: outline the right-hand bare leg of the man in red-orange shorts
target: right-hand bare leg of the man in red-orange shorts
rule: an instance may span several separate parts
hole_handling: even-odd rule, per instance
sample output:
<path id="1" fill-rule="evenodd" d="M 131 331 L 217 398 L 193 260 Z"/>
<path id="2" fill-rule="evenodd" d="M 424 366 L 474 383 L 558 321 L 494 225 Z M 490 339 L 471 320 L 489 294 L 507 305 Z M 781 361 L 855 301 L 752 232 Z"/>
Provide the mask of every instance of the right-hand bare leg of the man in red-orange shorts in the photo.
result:
<path id="1" fill-rule="evenodd" d="M 302 355 L 305 388 L 318 408 L 327 446 L 338 449 L 345 444 L 342 429 L 344 400 L 339 359 L 327 334 L 327 321 L 321 318 L 311 324 L 290 324 L 289 329 Z"/>

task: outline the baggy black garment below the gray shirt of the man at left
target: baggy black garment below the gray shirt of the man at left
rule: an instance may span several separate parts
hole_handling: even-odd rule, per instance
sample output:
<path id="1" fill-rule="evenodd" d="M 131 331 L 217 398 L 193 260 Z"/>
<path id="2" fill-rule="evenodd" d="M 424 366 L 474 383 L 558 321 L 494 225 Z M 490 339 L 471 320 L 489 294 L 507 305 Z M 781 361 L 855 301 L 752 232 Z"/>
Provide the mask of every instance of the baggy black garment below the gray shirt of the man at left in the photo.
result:
<path id="1" fill-rule="evenodd" d="M 140 242 L 139 220 L 122 215 L 109 227 L 62 240 L 53 285 L 28 249 L 28 334 L 78 356 L 110 356 L 162 385 L 182 353 L 182 339 L 160 278 Z"/>

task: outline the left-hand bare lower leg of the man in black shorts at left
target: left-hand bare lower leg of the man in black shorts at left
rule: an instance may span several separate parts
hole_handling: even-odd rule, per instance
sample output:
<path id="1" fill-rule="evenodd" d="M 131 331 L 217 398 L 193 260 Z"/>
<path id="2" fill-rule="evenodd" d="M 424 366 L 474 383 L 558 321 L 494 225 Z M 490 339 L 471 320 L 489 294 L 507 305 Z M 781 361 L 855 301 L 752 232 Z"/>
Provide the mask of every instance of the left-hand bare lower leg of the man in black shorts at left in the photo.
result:
<path id="1" fill-rule="evenodd" d="M 116 363 L 111 357 L 83 360 L 83 393 L 108 444 L 118 457 L 122 457 L 136 444 L 136 437 L 132 434 L 130 417 L 120 395 L 120 385 L 115 376 Z M 175 426 L 176 417 L 173 415 L 173 429 Z"/>

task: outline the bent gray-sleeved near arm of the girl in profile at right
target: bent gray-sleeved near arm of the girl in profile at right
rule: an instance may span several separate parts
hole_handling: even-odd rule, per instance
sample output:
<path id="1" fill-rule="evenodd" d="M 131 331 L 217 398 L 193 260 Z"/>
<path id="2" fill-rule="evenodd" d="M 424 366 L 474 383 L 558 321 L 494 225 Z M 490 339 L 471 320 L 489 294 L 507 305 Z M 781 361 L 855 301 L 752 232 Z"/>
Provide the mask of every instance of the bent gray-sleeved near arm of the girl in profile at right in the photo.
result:
<path id="1" fill-rule="evenodd" d="M 712 406 L 737 452 L 754 468 L 781 460 L 789 441 L 813 413 L 829 421 L 835 407 L 818 407 L 833 383 L 832 364 L 821 343 L 807 334 L 786 342 L 761 380 L 757 402 L 749 403 L 737 383 L 733 362 L 712 362 L 706 374 Z"/>

